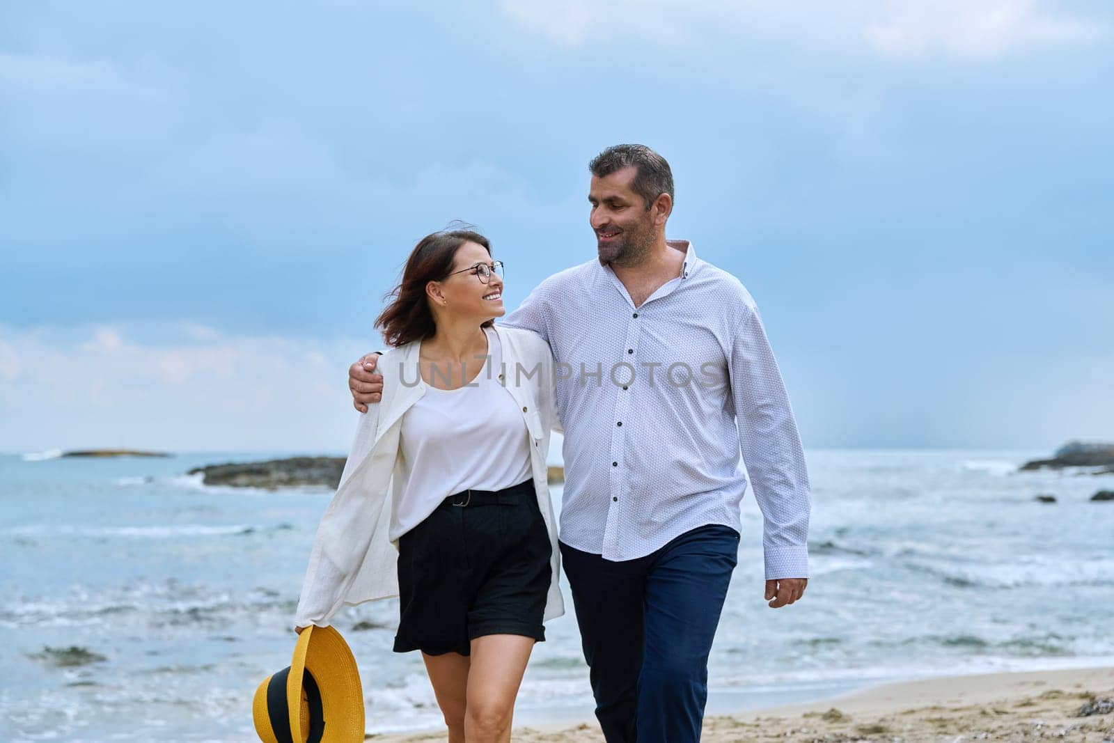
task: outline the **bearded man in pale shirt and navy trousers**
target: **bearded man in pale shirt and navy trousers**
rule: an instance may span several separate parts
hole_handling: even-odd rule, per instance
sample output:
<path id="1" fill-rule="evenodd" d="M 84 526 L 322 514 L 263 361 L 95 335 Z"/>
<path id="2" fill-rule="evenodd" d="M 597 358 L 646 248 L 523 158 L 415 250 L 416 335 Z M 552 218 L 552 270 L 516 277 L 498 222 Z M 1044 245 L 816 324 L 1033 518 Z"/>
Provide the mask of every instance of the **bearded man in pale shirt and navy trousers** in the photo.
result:
<path id="1" fill-rule="evenodd" d="M 765 598 L 808 584 L 809 479 L 753 299 L 667 241 L 673 175 L 642 145 L 589 164 L 598 256 L 544 281 L 505 325 L 543 335 L 565 430 L 560 550 L 608 742 L 700 740 L 707 657 L 735 567 L 747 481 Z M 378 402 L 373 354 L 350 370 Z"/>

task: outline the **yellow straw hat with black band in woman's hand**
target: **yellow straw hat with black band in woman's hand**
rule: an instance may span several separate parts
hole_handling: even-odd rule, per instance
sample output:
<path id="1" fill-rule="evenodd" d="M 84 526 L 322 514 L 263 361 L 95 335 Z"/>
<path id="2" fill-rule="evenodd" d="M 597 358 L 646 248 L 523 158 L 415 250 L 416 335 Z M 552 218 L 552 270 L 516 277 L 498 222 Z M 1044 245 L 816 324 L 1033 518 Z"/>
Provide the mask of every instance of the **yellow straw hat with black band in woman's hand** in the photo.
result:
<path id="1" fill-rule="evenodd" d="M 290 666 L 255 690 L 252 716 L 264 743 L 362 743 L 360 671 L 341 634 L 303 629 Z"/>

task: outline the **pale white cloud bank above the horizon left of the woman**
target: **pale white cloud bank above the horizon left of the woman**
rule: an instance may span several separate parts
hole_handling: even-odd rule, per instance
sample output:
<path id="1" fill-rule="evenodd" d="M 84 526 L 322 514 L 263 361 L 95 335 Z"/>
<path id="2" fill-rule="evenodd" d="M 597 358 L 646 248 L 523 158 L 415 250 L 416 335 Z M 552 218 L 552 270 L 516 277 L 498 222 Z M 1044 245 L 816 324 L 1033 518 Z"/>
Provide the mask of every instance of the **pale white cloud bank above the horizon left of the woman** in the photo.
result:
<path id="1" fill-rule="evenodd" d="M 0 325 L 0 451 L 121 441 L 170 450 L 346 451 L 358 416 L 348 365 L 374 339 L 206 329 L 198 340 L 198 327 Z"/>

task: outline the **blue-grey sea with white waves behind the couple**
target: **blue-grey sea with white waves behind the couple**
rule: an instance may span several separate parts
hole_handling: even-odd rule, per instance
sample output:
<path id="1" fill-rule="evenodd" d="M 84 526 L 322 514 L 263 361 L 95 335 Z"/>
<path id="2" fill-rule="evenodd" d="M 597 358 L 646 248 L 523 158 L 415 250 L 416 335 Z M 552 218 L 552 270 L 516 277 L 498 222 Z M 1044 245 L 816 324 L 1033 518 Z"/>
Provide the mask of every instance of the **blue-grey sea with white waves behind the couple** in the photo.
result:
<path id="1" fill-rule="evenodd" d="M 186 472 L 307 452 L 56 453 L 0 454 L 0 740 L 258 740 L 252 697 L 290 665 L 332 490 L 214 488 Z M 887 681 L 1114 665 L 1114 502 L 1089 500 L 1114 475 L 1018 471 L 1047 453 L 809 451 L 811 576 L 778 609 L 763 599 L 747 493 L 710 713 Z M 565 595 L 516 724 L 592 717 Z M 397 623 L 393 599 L 333 618 L 359 664 L 369 733 L 440 724 L 419 654 L 391 652 Z"/>

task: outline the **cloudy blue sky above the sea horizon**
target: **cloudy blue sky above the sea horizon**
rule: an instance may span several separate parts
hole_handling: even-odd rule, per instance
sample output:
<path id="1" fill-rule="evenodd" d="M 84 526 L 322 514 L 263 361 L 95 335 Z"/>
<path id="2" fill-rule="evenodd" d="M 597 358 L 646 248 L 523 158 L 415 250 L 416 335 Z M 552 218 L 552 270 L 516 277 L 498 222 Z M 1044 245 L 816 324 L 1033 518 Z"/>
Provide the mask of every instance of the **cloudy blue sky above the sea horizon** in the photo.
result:
<path id="1" fill-rule="evenodd" d="M 1114 439 L 1104 2 L 4 3 L 0 451 L 344 451 L 418 237 L 508 306 L 587 160 L 759 302 L 807 448 Z"/>

